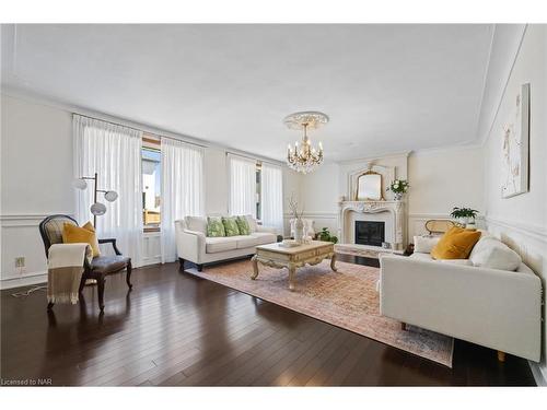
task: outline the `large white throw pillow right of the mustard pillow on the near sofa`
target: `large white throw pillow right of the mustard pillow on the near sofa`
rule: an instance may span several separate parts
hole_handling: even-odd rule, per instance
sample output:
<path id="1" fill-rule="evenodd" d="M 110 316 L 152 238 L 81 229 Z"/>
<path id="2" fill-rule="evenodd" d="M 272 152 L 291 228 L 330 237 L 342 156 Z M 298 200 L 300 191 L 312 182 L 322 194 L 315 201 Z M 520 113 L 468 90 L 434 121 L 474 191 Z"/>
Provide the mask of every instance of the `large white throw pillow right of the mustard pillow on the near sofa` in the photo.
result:
<path id="1" fill-rule="evenodd" d="M 514 271 L 522 262 L 517 253 L 493 236 L 480 238 L 469 255 L 473 266 Z"/>

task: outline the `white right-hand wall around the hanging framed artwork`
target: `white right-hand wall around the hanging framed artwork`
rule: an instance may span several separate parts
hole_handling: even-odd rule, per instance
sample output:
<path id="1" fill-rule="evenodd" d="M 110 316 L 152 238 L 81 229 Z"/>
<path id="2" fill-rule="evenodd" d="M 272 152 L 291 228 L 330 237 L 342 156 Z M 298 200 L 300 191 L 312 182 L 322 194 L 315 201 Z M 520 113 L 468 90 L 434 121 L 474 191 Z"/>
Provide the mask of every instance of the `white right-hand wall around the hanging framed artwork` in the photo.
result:
<path id="1" fill-rule="evenodd" d="M 543 279 L 547 276 L 547 32 L 543 25 L 529 25 L 509 78 L 498 114 L 485 142 L 485 207 L 488 229 L 513 247 Z M 529 192 L 501 198 L 503 125 L 514 108 L 520 86 L 529 83 Z M 545 306 L 544 306 L 545 318 Z M 547 379 L 547 333 L 544 323 L 543 362 Z"/>

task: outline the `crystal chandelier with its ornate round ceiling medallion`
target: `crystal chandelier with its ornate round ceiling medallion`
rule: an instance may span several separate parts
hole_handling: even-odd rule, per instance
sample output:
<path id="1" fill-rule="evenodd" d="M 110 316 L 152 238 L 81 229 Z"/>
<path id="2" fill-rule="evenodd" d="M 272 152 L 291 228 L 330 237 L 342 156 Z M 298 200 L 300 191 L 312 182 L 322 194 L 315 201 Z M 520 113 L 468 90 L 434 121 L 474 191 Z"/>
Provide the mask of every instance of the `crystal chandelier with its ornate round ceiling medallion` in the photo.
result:
<path id="1" fill-rule="evenodd" d="M 323 145 L 319 142 L 318 149 L 315 149 L 307 137 L 307 130 L 327 124 L 327 115 L 319 112 L 294 113 L 284 117 L 283 122 L 289 129 L 304 131 L 300 145 L 294 142 L 294 148 L 291 144 L 287 148 L 287 165 L 302 174 L 311 173 L 323 162 Z"/>

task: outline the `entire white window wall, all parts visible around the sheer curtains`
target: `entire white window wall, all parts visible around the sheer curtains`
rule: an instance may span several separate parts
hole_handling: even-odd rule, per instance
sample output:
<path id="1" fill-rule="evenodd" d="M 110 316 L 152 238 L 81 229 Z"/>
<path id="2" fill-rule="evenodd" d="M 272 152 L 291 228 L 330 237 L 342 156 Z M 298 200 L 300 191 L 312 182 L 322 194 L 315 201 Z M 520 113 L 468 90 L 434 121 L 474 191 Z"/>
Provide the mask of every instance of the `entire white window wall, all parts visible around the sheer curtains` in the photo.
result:
<path id="1" fill-rule="evenodd" d="M 143 130 L 154 132 L 149 127 Z M 164 134 L 173 137 L 170 132 Z M 72 113 L 55 103 L 1 94 L 0 147 L 0 285 L 37 283 L 45 280 L 46 272 L 38 223 L 54 213 L 74 213 Z M 207 147 L 203 167 L 205 211 L 225 214 L 226 149 Z M 299 183 L 294 172 L 283 172 L 286 198 L 291 191 L 299 192 Z M 158 234 L 144 234 L 143 248 L 146 263 L 160 260 Z M 15 268 L 14 259 L 19 256 L 25 257 L 23 270 Z"/>

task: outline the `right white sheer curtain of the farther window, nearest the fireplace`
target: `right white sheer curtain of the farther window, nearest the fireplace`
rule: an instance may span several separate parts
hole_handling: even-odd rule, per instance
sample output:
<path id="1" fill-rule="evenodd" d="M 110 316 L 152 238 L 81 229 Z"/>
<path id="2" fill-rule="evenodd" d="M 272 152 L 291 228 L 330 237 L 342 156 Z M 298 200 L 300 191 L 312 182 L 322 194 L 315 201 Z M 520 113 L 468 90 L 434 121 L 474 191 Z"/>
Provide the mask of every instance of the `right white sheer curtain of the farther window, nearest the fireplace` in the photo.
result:
<path id="1" fill-rule="evenodd" d="M 283 229 L 283 175 L 281 168 L 263 162 L 261 172 L 263 224 L 276 227 L 278 233 Z"/>

